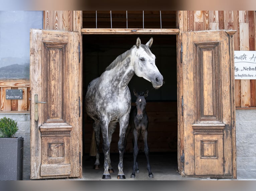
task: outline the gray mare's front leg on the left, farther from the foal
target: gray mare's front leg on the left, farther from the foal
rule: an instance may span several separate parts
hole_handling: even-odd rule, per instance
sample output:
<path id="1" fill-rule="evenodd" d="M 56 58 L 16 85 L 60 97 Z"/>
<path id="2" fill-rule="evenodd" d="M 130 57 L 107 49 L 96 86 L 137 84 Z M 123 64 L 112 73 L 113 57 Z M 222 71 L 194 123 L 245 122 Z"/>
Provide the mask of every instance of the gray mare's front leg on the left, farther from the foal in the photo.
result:
<path id="1" fill-rule="evenodd" d="M 101 119 L 100 125 L 101 125 L 101 133 L 103 137 L 102 150 L 104 153 L 104 173 L 102 176 L 103 179 L 111 179 L 111 176 L 108 171 L 108 168 L 109 168 L 108 154 L 110 150 L 110 142 L 108 139 L 108 124 L 109 124 L 109 121 L 107 119 Z"/>

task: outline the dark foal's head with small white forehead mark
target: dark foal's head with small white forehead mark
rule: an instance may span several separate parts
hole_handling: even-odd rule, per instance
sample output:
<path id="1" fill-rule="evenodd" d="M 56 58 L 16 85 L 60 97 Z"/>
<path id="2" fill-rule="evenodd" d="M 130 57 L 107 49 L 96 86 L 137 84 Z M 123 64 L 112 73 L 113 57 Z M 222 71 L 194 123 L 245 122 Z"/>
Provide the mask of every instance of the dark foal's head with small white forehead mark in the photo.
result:
<path id="1" fill-rule="evenodd" d="M 148 96 L 148 90 L 141 93 L 137 93 L 135 90 L 133 90 L 133 93 L 137 97 L 135 102 L 137 107 L 137 119 L 141 120 L 147 104 L 146 97 Z"/>

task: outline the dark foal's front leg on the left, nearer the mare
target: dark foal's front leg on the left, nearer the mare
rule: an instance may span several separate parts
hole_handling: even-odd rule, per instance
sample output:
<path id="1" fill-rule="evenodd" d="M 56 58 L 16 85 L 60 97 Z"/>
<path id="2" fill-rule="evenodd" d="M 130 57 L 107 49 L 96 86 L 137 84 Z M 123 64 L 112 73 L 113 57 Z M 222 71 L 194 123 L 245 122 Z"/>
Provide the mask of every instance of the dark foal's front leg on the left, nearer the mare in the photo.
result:
<path id="1" fill-rule="evenodd" d="M 137 162 L 137 156 L 139 153 L 139 147 L 138 147 L 139 130 L 136 130 L 135 128 L 133 128 L 132 134 L 133 134 L 133 166 L 132 166 L 131 178 L 135 178 L 135 171 L 140 172 L 138 168 L 138 162 Z"/>

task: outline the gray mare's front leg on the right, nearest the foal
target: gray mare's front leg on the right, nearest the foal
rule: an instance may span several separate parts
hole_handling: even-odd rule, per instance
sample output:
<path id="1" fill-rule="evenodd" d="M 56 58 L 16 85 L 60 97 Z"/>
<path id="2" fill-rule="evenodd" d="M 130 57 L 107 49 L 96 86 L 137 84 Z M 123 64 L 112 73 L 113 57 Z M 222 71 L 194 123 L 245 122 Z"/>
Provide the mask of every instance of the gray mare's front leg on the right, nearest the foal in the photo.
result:
<path id="1" fill-rule="evenodd" d="M 120 120 L 119 120 L 119 125 L 120 125 L 120 131 L 119 131 L 119 141 L 118 141 L 118 150 L 119 150 L 119 163 L 118 163 L 118 174 L 117 178 L 118 179 L 125 179 L 125 175 L 123 172 L 123 157 L 124 157 L 124 149 L 125 149 L 125 133 L 126 129 L 129 123 L 129 113 L 124 115 Z"/>

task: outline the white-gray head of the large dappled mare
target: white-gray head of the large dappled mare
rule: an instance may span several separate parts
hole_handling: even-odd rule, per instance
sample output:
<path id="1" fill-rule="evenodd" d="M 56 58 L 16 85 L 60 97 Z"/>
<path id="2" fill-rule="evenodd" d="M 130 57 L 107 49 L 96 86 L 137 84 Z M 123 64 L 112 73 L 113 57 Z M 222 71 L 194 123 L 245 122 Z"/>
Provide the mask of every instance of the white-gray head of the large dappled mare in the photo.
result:
<path id="1" fill-rule="evenodd" d="M 153 38 L 146 45 L 141 44 L 139 38 L 136 40 L 134 72 L 138 77 L 142 77 L 151 82 L 155 89 L 163 85 L 163 76 L 155 65 L 155 55 L 150 51 Z"/>

